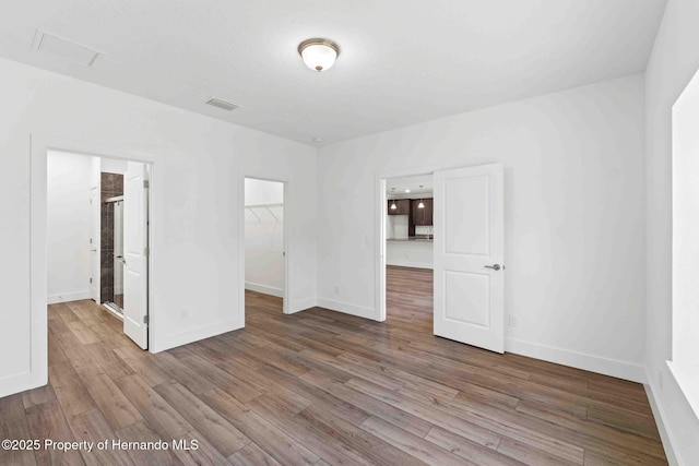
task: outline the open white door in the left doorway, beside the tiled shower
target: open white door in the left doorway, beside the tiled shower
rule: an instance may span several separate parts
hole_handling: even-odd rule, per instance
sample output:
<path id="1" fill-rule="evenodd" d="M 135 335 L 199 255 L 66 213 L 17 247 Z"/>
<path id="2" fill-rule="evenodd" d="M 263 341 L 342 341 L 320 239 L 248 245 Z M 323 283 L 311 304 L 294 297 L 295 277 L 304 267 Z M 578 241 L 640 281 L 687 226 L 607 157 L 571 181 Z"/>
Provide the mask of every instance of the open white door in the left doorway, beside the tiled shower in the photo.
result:
<path id="1" fill-rule="evenodd" d="M 145 166 L 129 162 L 123 175 L 123 333 L 149 346 L 149 182 Z"/>

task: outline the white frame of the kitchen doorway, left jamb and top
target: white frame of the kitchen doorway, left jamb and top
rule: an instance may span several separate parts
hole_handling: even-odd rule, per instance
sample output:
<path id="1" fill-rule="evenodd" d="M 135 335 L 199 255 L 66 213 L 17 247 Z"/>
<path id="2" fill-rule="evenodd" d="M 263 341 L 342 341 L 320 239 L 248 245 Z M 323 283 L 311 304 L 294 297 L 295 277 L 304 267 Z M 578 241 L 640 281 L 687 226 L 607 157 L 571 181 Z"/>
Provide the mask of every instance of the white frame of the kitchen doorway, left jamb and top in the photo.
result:
<path id="1" fill-rule="evenodd" d="M 376 318 L 379 322 L 384 322 L 387 318 L 386 313 L 386 224 L 388 215 L 388 194 L 386 193 L 386 181 L 389 178 L 403 178 L 403 177 L 420 177 L 426 175 L 434 175 L 435 171 L 443 169 L 435 166 L 422 166 L 422 167 L 401 167 L 391 168 L 377 174 L 376 177 L 376 236 L 375 241 L 377 247 L 375 248 L 375 265 L 376 265 L 376 286 L 375 286 L 375 302 L 378 307 L 378 315 Z"/>

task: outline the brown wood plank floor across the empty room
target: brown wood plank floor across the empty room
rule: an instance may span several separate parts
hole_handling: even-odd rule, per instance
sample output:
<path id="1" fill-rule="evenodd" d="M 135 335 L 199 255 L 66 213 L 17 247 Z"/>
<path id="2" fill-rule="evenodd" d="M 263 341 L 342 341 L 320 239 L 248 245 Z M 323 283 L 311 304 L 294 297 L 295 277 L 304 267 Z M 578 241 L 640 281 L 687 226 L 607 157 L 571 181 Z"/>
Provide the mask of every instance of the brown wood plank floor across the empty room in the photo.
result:
<path id="1" fill-rule="evenodd" d="M 386 323 L 250 292 L 245 330 L 158 355 L 92 301 L 50 306 L 49 384 L 0 398 L 0 438 L 200 449 L 0 464 L 666 464 L 641 385 L 431 336 L 430 271 L 388 289 Z"/>

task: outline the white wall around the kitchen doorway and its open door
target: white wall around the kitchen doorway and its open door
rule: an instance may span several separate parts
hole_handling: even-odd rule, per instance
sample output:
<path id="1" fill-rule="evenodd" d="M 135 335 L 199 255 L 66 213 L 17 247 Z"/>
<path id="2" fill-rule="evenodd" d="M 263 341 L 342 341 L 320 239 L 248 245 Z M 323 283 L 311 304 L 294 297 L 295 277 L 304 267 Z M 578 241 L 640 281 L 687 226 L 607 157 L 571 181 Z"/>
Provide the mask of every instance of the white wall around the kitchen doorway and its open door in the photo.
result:
<path id="1" fill-rule="evenodd" d="M 319 306 L 379 319 L 380 178 L 500 162 L 507 349 L 642 380 L 643 148 L 642 75 L 323 147 Z"/>

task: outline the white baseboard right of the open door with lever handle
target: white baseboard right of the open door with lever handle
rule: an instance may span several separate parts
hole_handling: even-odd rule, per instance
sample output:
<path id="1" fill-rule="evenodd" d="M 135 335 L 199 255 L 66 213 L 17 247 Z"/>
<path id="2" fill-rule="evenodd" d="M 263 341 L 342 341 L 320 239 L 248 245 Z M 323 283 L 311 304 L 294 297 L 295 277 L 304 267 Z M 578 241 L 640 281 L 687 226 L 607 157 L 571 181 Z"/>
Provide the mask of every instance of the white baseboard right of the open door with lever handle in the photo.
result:
<path id="1" fill-rule="evenodd" d="M 505 350 L 548 362 L 569 366 L 571 368 L 615 377 L 617 379 L 645 383 L 645 370 L 642 366 L 632 362 L 602 358 L 600 356 L 538 345 L 514 338 L 505 339 Z"/>

